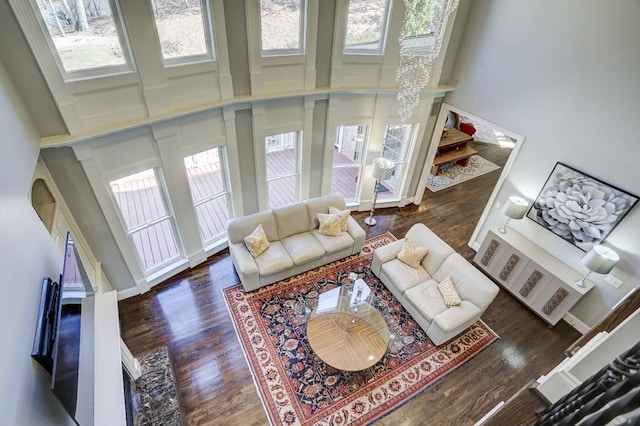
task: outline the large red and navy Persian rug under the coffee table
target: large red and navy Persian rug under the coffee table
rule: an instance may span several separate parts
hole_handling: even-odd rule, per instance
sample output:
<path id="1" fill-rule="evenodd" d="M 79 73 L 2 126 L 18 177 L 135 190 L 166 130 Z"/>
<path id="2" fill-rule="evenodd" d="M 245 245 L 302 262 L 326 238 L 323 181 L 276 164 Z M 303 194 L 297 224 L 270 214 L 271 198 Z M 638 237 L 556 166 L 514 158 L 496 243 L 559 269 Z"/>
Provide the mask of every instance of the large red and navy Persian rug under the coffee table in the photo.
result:
<path id="1" fill-rule="evenodd" d="M 223 290 L 240 344 L 273 425 L 368 424 L 416 396 L 498 339 L 482 321 L 436 347 L 370 270 L 373 250 L 395 241 L 386 233 L 362 253 L 245 293 Z M 305 302 L 355 272 L 371 287 L 377 308 L 395 336 L 385 356 L 359 372 L 321 361 L 306 338 Z"/>

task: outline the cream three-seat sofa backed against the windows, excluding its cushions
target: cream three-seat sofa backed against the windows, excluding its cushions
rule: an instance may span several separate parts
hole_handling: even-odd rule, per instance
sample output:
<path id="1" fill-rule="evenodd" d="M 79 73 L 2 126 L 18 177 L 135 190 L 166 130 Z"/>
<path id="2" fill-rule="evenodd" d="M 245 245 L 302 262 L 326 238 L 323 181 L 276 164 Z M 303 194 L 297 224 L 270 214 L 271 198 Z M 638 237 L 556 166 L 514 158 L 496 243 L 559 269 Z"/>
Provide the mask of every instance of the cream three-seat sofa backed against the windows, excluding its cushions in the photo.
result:
<path id="1" fill-rule="evenodd" d="M 347 232 L 340 232 L 335 237 L 318 232 L 317 213 L 328 213 L 329 206 L 344 210 L 344 197 L 331 194 L 311 198 L 227 222 L 231 259 L 245 291 L 362 251 L 365 232 L 351 216 Z M 254 258 L 244 244 L 244 237 L 259 224 L 262 224 L 270 245 Z"/>

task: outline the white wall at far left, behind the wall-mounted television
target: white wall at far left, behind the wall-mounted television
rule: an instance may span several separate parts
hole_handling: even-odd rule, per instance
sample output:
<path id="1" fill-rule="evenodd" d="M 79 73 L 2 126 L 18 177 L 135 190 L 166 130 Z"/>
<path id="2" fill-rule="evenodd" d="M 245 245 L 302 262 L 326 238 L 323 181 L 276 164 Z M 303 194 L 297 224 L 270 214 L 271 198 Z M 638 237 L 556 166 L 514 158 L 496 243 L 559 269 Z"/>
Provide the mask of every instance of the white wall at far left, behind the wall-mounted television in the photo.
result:
<path id="1" fill-rule="evenodd" d="M 31 357 L 40 286 L 58 279 L 62 252 L 29 201 L 38 137 L 0 65 L 0 418 L 3 425 L 72 424 Z"/>

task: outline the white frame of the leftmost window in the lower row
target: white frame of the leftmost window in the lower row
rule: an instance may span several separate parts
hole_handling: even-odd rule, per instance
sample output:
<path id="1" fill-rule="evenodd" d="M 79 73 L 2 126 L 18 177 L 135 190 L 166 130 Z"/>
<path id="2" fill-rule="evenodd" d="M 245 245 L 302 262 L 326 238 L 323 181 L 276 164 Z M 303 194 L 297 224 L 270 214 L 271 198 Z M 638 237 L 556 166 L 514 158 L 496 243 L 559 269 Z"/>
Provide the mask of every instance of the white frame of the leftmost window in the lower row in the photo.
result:
<path id="1" fill-rule="evenodd" d="M 122 215 L 122 210 L 120 209 L 120 205 L 118 204 L 118 201 L 116 200 L 116 195 L 113 191 L 113 189 L 111 188 L 111 182 L 131 176 L 131 175 L 135 175 L 138 173 L 142 173 L 145 172 L 147 170 L 153 170 L 154 176 L 156 178 L 156 182 L 158 183 L 158 189 L 160 192 L 160 197 L 162 199 L 162 202 L 164 203 L 164 207 L 166 210 L 166 214 L 162 217 L 158 217 L 155 218 L 153 220 L 151 220 L 150 222 L 147 222 L 143 225 L 138 225 L 135 226 L 131 229 L 129 229 L 127 227 L 126 221 L 124 220 L 124 217 Z M 113 203 L 113 206 L 115 208 L 115 213 L 118 216 L 118 220 L 120 221 L 120 226 L 122 227 L 122 231 L 127 239 L 127 242 L 129 244 L 129 246 L 133 249 L 133 253 L 135 254 L 136 257 L 136 261 L 138 262 L 138 266 L 140 267 L 140 270 L 142 271 L 142 274 L 145 278 L 148 278 L 156 273 L 158 273 L 161 270 L 164 270 L 167 267 L 170 267 L 172 264 L 181 261 L 182 259 L 184 259 L 184 247 L 182 246 L 182 239 L 180 237 L 180 233 L 179 233 L 179 229 L 176 223 L 176 217 L 175 217 L 175 213 L 173 211 L 173 207 L 171 205 L 171 202 L 169 200 L 169 192 L 167 190 L 167 185 L 164 179 L 164 174 L 162 173 L 162 168 L 158 165 L 151 165 L 151 166 L 147 166 L 147 167 L 142 167 L 141 169 L 136 169 L 136 170 L 128 170 L 126 173 L 122 173 L 119 174 L 118 176 L 113 176 L 110 179 L 106 180 L 106 186 L 107 186 L 107 192 L 109 193 L 109 197 L 111 198 L 111 201 Z M 169 259 L 167 262 L 156 265 L 155 267 L 151 268 L 151 269 L 147 269 L 145 267 L 144 264 L 144 260 L 141 257 L 140 252 L 138 251 L 138 248 L 136 246 L 136 243 L 133 239 L 133 234 L 148 229 L 152 226 L 155 226 L 159 223 L 162 223 L 164 221 L 168 221 L 169 225 L 171 227 L 171 231 L 173 234 L 173 238 L 176 242 L 176 249 L 177 249 L 177 256 L 173 257 L 171 259 Z"/>

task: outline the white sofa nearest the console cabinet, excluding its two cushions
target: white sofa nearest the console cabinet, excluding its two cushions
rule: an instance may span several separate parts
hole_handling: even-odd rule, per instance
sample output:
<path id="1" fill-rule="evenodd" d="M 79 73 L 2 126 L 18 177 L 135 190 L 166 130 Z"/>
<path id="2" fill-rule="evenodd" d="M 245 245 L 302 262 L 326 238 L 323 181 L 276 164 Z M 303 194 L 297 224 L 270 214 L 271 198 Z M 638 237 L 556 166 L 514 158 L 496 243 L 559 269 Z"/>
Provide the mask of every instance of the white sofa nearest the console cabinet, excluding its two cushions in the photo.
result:
<path id="1" fill-rule="evenodd" d="M 403 238 L 376 249 L 371 269 L 429 339 L 441 345 L 480 318 L 499 289 L 425 225 L 413 225 L 406 236 L 416 245 L 429 248 L 421 268 L 412 268 L 396 258 Z M 459 306 L 447 307 L 438 290 L 438 282 L 448 276 L 462 300 Z"/>

